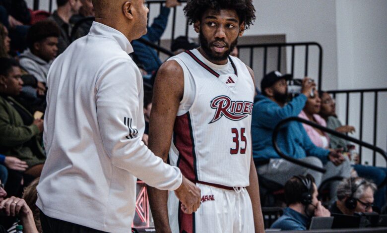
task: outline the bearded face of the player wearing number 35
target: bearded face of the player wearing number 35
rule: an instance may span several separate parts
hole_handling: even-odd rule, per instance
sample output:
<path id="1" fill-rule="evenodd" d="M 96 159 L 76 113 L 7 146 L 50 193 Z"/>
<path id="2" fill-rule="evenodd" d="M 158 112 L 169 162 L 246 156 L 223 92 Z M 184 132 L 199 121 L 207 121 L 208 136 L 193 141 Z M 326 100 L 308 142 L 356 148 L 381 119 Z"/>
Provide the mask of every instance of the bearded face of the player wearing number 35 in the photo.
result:
<path id="1" fill-rule="evenodd" d="M 209 9 L 194 27 L 199 33 L 203 52 L 214 61 L 227 59 L 244 31 L 244 24 L 232 9 Z"/>

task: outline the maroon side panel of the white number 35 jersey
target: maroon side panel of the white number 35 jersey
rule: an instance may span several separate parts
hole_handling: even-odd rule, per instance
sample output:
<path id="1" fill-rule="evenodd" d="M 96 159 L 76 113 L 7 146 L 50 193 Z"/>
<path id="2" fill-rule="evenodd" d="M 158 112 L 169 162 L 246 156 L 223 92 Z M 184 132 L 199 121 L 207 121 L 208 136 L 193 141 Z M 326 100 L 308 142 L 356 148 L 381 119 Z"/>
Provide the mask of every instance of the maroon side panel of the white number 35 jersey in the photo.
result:
<path id="1" fill-rule="evenodd" d="M 188 179 L 197 180 L 195 144 L 190 113 L 176 117 L 173 131 L 174 144 L 179 151 L 177 167 Z"/>

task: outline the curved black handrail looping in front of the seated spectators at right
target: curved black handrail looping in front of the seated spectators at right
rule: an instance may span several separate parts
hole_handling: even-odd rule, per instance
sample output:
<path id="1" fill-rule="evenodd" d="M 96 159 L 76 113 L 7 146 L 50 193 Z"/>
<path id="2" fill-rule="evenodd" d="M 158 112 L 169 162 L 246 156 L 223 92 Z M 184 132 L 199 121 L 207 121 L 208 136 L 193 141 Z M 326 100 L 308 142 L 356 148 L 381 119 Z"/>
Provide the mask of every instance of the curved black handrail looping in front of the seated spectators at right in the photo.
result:
<path id="1" fill-rule="evenodd" d="M 347 136 L 345 134 L 342 134 L 342 133 L 339 133 L 333 129 L 330 129 L 330 128 L 326 128 L 324 126 L 321 126 L 320 124 L 316 124 L 314 122 L 311 122 L 309 120 L 306 120 L 306 119 L 303 119 L 303 118 L 300 118 L 300 117 L 289 117 L 289 118 L 286 118 L 286 119 L 283 119 L 281 120 L 274 128 L 274 131 L 273 131 L 273 136 L 272 136 L 272 143 L 273 143 L 273 147 L 274 147 L 274 150 L 278 153 L 279 156 L 281 156 L 281 158 L 291 162 L 291 163 L 294 163 L 294 164 L 297 164 L 297 165 L 300 165 L 302 167 L 306 167 L 306 168 L 309 168 L 309 169 L 312 169 L 312 170 L 315 170 L 315 171 L 318 171 L 318 172 L 321 172 L 321 173 L 325 173 L 326 170 L 323 169 L 323 168 L 320 168 L 320 167 L 317 167 L 315 165 L 311 165 L 311 164 L 308 164 L 304 161 L 301 161 L 301 160 L 297 160 L 295 158 L 292 158 L 292 157 L 289 157 L 287 155 L 285 155 L 284 153 L 281 152 L 281 150 L 279 149 L 278 147 L 278 143 L 277 143 L 277 136 L 278 136 L 278 133 L 279 133 L 279 129 L 286 123 L 290 122 L 290 121 L 299 121 L 301 123 L 305 123 L 305 124 L 308 124 L 308 125 L 311 125 L 312 127 L 315 127 L 315 128 L 318 128 L 324 132 L 327 132 L 329 134 L 332 134 L 332 135 L 335 135 L 337 137 L 340 137 L 340 138 L 344 138 L 345 140 L 347 141 L 351 141 L 351 142 L 354 142 L 356 144 L 359 144 L 359 145 L 362 145 L 364 147 L 367 147 L 371 150 L 374 150 L 374 151 L 377 151 L 379 152 L 383 158 L 386 160 L 387 162 L 387 155 L 386 155 L 386 152 L 384 150 L 382 150 L 381 148 L 377 147 L 377 146 L 373 146 L 367 142 L 363 142 L 363 141 L 360 141 L 356 138 L 353 138 L 353 137 L 350 137 L 350 136 Z M 383 182 L 385 183 L 385 182 Z"/>

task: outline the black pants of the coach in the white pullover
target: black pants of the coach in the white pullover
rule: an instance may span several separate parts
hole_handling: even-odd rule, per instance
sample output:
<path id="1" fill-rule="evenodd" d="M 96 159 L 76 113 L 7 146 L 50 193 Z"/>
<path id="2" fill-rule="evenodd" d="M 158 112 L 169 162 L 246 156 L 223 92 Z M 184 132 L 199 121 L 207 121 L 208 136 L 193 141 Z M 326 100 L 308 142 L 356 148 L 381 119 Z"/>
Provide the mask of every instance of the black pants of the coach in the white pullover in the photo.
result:
<path id="1" fill-rule="evenodd" d="M 42 211 L 40 211 L 40 223 L 42 224 L 43 233 L 105 233 L 74 223 L 50 218 Z"/>

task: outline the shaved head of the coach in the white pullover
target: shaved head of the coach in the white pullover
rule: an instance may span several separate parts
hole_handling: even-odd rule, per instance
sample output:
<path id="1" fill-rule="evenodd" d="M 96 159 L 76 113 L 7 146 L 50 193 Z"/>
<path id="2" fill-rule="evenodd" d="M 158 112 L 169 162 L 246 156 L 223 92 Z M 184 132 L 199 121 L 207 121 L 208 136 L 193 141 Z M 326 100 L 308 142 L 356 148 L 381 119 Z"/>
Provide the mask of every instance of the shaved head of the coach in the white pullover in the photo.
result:
<path id="1" fill-rule="evenodd" d="M 144 0 L 92 0 L 95 21 L 122 32 L 129 41 L 146 34 L 148 8 Z"/>

